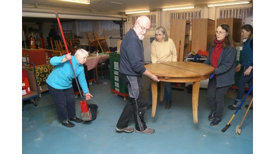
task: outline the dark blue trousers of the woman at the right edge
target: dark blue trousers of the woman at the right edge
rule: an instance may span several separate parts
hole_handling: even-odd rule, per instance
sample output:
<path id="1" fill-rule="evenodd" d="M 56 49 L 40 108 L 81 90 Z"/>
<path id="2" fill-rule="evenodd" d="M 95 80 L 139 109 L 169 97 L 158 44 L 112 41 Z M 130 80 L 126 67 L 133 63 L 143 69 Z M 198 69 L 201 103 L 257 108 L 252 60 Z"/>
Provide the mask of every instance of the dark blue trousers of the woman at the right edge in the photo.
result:
<path id="1" fill-rule="evenodd" d="M 250 75 L 244 76 L 243 73 L 241 73 L 241 77 L 238 81 L 238 96 L 236 99 L 243 99 L 243 94 L 245 92 L 245 84 L 248 83 L 249 88 L 253 86 L 253 69 L 250 72 Z M 253 89 L 251 90 L 251 94 L 253 96 Z"/>

